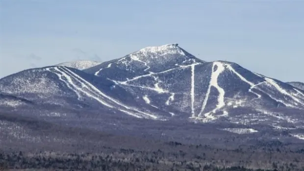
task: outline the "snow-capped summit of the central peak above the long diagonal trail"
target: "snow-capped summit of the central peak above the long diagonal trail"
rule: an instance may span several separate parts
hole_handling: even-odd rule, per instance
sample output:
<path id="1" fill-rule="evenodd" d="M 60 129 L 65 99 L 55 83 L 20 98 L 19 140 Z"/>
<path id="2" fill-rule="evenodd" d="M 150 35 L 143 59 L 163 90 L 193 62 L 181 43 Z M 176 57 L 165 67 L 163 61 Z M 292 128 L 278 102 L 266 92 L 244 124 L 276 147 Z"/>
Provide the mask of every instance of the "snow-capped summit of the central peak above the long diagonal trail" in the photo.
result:
<path id="1" fill-rule="evenodd" d="M 157 47 L 147 47 L 130 53 L 125 57 L 108 61 L 86 70 L 87 73 L 101 75 L 111 74 L 108 78 L 112 80 L 126 81 L 139 75 L 159 73 L 175 68 L 187 68 L 191 65 L 205 63 L 196 58 L 178 44 L 167 44 Z"/>

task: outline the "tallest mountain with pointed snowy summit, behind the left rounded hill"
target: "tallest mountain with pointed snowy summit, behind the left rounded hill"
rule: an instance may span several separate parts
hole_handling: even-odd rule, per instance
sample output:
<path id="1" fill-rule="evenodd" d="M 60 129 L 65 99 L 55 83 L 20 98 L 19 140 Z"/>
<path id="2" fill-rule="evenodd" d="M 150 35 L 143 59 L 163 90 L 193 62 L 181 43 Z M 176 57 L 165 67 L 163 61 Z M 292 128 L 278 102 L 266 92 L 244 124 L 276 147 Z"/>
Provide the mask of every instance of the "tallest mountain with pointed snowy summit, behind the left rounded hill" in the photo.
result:
<path id="1" fill-rule="evenodd" d="M 303 90 L 232 62 L 202 61 L 177 44 L 140 49 L 84 72 L 103 75 L 174 117 L 203 122 L 287 121 L 288 110 L 304 109 Z"/>

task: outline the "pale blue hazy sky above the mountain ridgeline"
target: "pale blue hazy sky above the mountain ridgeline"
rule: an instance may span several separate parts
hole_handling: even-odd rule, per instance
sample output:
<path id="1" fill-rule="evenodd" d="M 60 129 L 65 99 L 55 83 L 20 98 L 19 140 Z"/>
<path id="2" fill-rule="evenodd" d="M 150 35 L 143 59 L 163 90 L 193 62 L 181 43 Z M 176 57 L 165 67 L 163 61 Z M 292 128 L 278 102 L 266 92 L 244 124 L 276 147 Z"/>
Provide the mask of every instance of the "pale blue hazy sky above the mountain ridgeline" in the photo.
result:
<path id="1" fill-rule="evenodd" d="M 3 1 L 0 77 L 77 59 L 107 61 L 178 43 L 304 82 L 304 1 Z"/>

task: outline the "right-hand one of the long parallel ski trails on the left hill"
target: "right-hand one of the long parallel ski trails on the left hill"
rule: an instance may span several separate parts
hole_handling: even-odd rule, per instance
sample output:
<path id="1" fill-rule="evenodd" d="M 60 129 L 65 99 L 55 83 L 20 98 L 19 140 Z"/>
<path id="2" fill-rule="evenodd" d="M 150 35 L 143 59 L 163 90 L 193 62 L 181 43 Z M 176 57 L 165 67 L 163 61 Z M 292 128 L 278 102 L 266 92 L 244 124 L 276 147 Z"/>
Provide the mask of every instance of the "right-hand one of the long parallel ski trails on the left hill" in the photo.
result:
<path id="1" fill-rule="evenodd" d="M 91 88 L 91 90 L 94 90 L 96 93 L 98 93 L 99 95 L 101 95 L 101 97 L 106 98 L 106 99 L 108 99 L 108 100 L 110 100 L 110 101 L 112 101 L 112 102 L 114 102 L 114 103 L 116 103 L 116 104 L 118 104 L 118 105 L 120 105 L 120 106 L 126 108 L 126 109 L 136 111 L 136 112 L 141 113 L 141 114 L 143 114 L 143 115 L 149 116 L 149 117 L 151 117 L 151 118 L 153 118 L 153 119 L 157 119 L 157 116 L 155 116 L 155 115 L 152 115 L 152 114 L 149 114 L 149 113 L 145 113 L 145 112 L 139 111 L 139 110 L 137 110 L 137 109 L 135 109 L 135 108 L 128 107 L 127 105 L 124 105 L 123 103 L 120 103 L 119 101 L 117 101 L 117 100 L 115 100 L 115 99 L 113 99 L 113 98 L 111 98 L 111 97 L 105 95 L 105 94 L 102 93 L 99 89 L 97 89 L 97 88 L 96 88 L 95 86 L 93 86 L 91 83 L 89 83 L 89 82 L 87 82 L 86 80 L 84 80 L 83 78 L 81 78 L 81 77 L 80 77 L 79 75 L 77 75 L 76 73 L 73 73 L 72 71 L 70 71 L 70 70 L 67 69 L 67 68 L 64 68 L 64 69 L 65 69 L 66 71 L 68 71 L 69 73 L 73 74 L 74 77 L 78 78 L 78 79 L 81 80 L 83 83 L 85 83 L 88 87 Z M 119 109 L 119 110 L 121 110 L 121 109 Z"/>

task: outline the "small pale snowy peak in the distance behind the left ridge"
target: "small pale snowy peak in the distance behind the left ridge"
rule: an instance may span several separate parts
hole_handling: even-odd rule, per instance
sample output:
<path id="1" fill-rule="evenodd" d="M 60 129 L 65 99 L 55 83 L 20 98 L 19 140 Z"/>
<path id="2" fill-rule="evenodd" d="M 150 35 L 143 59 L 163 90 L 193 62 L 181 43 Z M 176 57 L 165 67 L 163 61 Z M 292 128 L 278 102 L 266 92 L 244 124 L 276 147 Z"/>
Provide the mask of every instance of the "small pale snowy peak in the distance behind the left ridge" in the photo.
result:
<path id="1" fill-rule="evenodd" d="M 77 70 L 85 70 L 85 69 L 94 67 L 94 66 L 99 65 L 99 64 L 101 64 L 101 62 L 88 61 L 88 60 L 78 60 L 78 61 L 60 63 L 60 64 L 57 64 L 55 66 L 70 67 L 70 68 L 75 68 Z"/>

